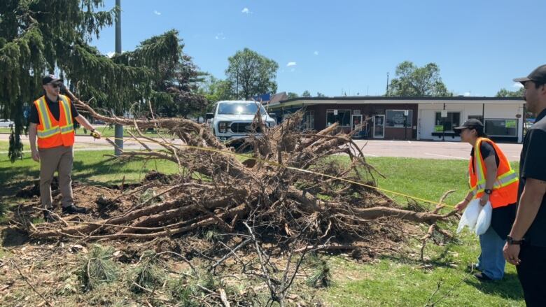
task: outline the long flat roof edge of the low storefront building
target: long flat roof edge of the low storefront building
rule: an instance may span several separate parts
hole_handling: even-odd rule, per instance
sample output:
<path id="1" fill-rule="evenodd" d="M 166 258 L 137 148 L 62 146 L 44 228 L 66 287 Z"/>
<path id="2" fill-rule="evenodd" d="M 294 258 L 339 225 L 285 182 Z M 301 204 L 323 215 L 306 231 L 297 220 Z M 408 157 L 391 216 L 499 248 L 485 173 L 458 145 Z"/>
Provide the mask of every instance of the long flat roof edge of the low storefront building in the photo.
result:
<path id="1" fill-rule="evenodd" d="M 286 99 L 276 103 L 269 103 L 271 108 L 288 106 L 311 106 L 316 104 L 400 104 L 400 103 L 499 103 L 519 104 L 525 103 L 521 97 L 386 97 L 386 96 L 341 96 L 341 97 L 298 97 Z"/>

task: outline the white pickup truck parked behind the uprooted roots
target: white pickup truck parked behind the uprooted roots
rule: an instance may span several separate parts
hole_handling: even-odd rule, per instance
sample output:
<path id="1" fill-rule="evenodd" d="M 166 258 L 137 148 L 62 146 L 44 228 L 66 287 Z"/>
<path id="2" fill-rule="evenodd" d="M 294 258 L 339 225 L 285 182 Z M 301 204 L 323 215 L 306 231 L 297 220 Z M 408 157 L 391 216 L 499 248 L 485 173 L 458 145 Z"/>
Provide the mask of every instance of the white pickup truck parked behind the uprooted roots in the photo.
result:
<path id="1" fill-rule="evenodd" d="M 261 103 L 255 101 L 218 101 L 214 113 L 207 113 L 211 129 L 221 140 L 242 138 L 250 134 L 261 134 L 260 127 L 253 124 L 254 116 L 260 110 L 262 121 L 273 127 L 276 121 L 267 114 Z"/>

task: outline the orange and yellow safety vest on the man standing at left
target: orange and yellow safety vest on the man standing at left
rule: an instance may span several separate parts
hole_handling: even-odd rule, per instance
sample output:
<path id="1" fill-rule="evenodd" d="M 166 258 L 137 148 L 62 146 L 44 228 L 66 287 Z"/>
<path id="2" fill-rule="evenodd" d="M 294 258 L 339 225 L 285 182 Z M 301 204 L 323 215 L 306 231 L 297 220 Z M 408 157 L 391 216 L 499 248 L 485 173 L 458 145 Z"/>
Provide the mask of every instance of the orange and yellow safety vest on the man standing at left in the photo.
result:
<path id="1" fill-rule="evenodd" d="M 51 115 L 45 96 L 42 96 L 34 105 L 38 110 L 40 123 L 38 124 L 38 148 L 52 148 L 57 146 L 71 146 L 74 143 L 74 123 L 70 99 L 59 95 L 59 120 Z"/>

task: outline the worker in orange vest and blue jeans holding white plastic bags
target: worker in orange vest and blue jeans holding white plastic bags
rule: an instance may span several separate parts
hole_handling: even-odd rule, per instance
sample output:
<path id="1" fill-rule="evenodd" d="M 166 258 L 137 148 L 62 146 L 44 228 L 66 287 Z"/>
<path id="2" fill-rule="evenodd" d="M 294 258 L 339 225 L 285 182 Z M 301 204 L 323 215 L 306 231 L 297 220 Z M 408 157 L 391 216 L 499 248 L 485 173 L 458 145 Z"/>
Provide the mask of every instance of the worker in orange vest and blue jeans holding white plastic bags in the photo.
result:
<path id="1" fill-rule="evenodd" d="M 479 236 L 482 252 L 472 266 L 481 272 L 474 276 L 482 281 L 500 280 L 506 264 L 503 246 L 516 214 L 518 176 L 496 143 L 486 138 L 482 122 L 470 119 L 454 131 L 461 135 L 462 142 L 472 145 L 470 191 L 455 208 L 462 211 L 472 199 L 479 199 L 480 206 L 490 202 L 493 208 L 491 226 Z"/>

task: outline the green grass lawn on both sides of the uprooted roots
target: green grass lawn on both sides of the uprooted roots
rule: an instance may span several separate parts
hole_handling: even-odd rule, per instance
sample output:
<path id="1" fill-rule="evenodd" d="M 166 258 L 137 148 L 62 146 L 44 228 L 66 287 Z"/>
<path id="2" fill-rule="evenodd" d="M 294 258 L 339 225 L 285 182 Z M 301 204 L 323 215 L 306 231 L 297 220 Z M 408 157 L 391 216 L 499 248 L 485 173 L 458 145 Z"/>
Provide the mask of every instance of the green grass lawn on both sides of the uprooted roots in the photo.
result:
<path id="1" fill-rule="evenodd" d="M 3 144 L 0 143 L 0 146 Z M 1 147 L 0 147 L 1 148 Z M 76 151 L 73 179 L 94 185 L 119 184 L 141 180 L 146 171 L 165 173 L 177 171 L 171 162 L 113 161 L 105 151 Z M 339 158 L 346 159 L 346 158 Z M 367 159 L 387 178 L 379 179 L 379 187 L 415 197 L 437 201 L 447 190 L 456 190 L 447 199 L 456 204 L 466 192 L 467 162 L 458 160 L 406 159 L 374 157 Z M 512 164 L 517 169 L 517 164 Z M 38 179 L 38 164 L 29 157 L 11 164 L 7 155 L 0 156 L 2 192 L 13 193 Z M 406 200 L 397 197 L 405 204 Z M 442 227 L 454 233 L 456 223 Z M 423 234 L 426 225 L 423 225 Z M 463 232 L 447 245 L 429 242 L 427 260 L 419 262 L 420 243 L 409 239 L 414 255 L 378 257 L 372 264 L 360 264 L 341 256 L 327 257 L 334 284 L 319 290 L 317 297 L 327 306 L 425 306 L 440 283 L 440 290 L 431 299 L 435 306 L 524 306 L 523 294 L 514 266 L 506 266 L 505 279 L 494 283 L 479 283 L 465 271 L 467 264 L 479 255 L 477 237 Z"/>

